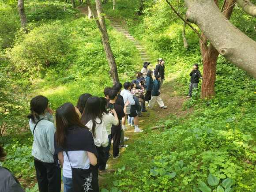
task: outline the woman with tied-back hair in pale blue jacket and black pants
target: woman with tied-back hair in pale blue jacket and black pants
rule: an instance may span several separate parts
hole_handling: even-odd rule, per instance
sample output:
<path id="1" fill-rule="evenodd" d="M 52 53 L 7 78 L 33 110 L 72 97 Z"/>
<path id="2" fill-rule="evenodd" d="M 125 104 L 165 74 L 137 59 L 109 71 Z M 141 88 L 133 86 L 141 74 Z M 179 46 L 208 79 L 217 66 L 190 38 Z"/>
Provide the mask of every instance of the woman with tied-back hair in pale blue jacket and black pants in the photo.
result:
<path id="1" fill-rule="evenodd" d="M 32 155 L 36 168 L 40 192 L 60 192 L 61 170 L 54 165 L 54 133 L 56 132 L 53 110 L 49 100 L 38 95 L 31 99 L 29 118 L 30 130 L 34 136 Z"/>

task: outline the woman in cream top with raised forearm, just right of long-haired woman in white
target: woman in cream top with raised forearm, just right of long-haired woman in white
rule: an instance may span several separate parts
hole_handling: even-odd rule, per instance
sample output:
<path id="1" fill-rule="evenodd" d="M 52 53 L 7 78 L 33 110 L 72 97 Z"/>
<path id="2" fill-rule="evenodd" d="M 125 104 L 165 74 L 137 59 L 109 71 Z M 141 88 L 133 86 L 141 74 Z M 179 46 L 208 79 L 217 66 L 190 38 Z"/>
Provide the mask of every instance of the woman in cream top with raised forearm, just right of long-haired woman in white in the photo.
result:
<path id="1" fill-rule="evenodd" d="M 106 130 L 108 133 L 108 138 L 109 138 L 108 146 L 103 147 L 104 152 L 105 152 L 105 161 L 107 162 L 109 157 L 111 156 L 111 154 L 109 153 L 109 149 L 111 146 L 111 139 L 112 139 L 111 138 L 111 128 L 112 128 L 112 125 L 117 126 L 119 124 L 119 120 L 118 120 L 117 113 L 116 113 L 115 109 L 110 110 L 110 112 L 112 112 L 114 114 L 114 116 L 111 113 L 109 113 L 109 110 L 108 111 L 106 110 L 107 106 L 108 106 L 107 99 L 101 97 L 100 100 L 101 100 L 102 120 L 105 123 Z M 101 166 L 99 166 L 99 171 L 102 172 L 104 169 L 107 169 L 108 167 L 109 167 L 108 164 L 101 165 Z"/>

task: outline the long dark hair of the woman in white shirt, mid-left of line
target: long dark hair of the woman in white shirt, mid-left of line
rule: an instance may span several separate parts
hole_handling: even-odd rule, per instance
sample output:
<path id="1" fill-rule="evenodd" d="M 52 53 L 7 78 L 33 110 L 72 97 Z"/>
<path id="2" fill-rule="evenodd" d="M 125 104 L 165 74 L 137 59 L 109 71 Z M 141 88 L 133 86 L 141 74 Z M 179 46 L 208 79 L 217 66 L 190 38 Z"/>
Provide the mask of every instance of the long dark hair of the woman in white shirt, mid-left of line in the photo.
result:
<path id="1" fill-rule="evenodd" d="M 97 117 L 101 120 L 100 123 L 96 122 Z M 83 114 L 80 120 L 82 121 L 83 124 L 87 124 L 90 120 L 92 120 L 91 133 L 95 138 L 96 123 L 97 124 L 102 123 L 101 100 L 97 96 L 91 96 L 90 98 L 88 98 L 86 105 L 83 109 Z"/>

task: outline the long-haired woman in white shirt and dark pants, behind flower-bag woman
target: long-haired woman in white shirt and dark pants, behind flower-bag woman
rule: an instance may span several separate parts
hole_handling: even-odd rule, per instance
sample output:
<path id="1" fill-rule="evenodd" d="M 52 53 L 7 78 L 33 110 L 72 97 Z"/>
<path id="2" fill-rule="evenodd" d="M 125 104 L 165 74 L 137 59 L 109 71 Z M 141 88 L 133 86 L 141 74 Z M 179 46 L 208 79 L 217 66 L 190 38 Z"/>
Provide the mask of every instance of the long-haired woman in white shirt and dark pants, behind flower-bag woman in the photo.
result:
<path id="1" fill-rule="evenodd" d="M 105 165 L 105 153 L 103 147 L 109 144 L 106 126 L 102 120 L 101 100 L 97 96 L 88 98 L 83 110 L 81 122 L 87 126 L 94 138 L 94 144 L 99 154 L 98 166 Z"/>

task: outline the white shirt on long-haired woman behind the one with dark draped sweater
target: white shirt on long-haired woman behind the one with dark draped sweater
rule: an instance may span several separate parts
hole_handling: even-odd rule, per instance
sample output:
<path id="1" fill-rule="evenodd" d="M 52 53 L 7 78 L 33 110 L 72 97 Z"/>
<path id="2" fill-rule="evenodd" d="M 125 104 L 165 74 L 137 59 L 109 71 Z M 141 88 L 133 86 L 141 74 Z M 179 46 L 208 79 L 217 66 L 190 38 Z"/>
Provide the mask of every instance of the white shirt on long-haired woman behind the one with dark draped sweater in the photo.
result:
<path id="1" fill-rule="evenodd" d="M 97 147 L 108 147 L 109 145 L 109 135 L 107 133 L 107 130 L 106 130 L 106 126 L 105 126 L 105 123 L 104 121 L 102 120 L 102 123 L 99 124 L 101 121 L 100 119 L 97 117 L 96 120 L 95 120 L 95 138 L 94 139 L 94 144 L 97 146 Z M 92 120 L 89 120 L 89 122 L 85 125 L 89 128 L 90 132 L 92 133 Z"/>

